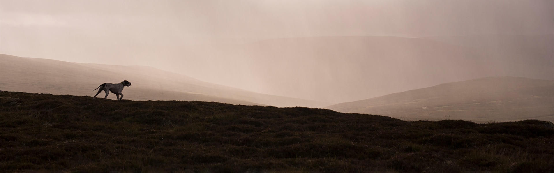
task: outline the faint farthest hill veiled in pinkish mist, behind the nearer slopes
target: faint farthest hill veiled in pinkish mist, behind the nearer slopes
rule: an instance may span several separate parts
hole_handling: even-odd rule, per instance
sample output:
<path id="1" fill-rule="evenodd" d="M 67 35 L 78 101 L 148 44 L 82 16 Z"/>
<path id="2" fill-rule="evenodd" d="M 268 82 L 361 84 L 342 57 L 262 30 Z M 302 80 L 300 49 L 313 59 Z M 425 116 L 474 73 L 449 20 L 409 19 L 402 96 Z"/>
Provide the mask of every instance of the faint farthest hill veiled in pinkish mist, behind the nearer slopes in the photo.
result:
<path id="1" fill-rule="evenodd" d="M 183 46 L 160 60 L 172 62 L 171 71 L 198 79 L 332 103 L 483 77 L 554 79 L 551 38 L 476 35 L 460 42 L 457 37 L 278 38 Z"/>

